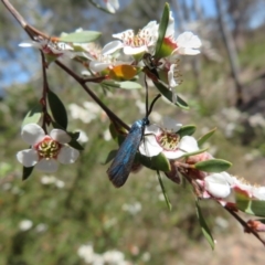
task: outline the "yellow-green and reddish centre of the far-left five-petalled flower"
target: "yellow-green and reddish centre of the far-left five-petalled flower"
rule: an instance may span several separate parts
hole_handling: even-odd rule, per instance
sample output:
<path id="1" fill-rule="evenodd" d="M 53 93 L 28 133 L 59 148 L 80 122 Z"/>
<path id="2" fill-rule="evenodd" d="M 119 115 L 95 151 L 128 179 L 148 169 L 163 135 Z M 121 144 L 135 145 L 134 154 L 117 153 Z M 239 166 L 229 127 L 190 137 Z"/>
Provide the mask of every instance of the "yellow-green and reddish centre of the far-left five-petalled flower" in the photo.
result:
<path id="1" fill-rule="evenodd" d="M 62 145 L 53 140 L 51 137 L 45 137 L 41 142 L 35 146 L 40 159 L 45 158 L 46 160 L 51 158 L 56 158 Z"/>

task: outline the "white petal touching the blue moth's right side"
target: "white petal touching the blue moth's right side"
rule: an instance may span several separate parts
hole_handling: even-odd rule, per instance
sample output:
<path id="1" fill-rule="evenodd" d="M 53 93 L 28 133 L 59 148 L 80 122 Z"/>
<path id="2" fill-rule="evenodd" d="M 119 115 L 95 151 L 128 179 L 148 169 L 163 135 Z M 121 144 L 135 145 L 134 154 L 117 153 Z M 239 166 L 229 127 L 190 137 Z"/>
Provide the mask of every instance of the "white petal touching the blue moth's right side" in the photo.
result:
<path id="1" fill-rule="evenodd" d="M 139 146 L 139 151 L 146 157 L 155 157 L 162 151 L 155 136 L 147 136 Z"/>

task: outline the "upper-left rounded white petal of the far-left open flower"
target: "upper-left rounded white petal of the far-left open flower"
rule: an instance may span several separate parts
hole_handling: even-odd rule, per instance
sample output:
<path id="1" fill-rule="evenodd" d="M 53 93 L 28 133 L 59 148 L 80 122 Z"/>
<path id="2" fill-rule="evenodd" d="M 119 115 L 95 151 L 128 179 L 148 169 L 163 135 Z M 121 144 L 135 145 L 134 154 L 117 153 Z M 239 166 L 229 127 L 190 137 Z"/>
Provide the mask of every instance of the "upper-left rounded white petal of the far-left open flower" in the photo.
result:
<path id="1" fill-rule="evenodd" d="M 40 142 L 44 136 L 44 130 L 38 124 L 28 124 L 21 130 L 22 139 L 31 146 Z"/>

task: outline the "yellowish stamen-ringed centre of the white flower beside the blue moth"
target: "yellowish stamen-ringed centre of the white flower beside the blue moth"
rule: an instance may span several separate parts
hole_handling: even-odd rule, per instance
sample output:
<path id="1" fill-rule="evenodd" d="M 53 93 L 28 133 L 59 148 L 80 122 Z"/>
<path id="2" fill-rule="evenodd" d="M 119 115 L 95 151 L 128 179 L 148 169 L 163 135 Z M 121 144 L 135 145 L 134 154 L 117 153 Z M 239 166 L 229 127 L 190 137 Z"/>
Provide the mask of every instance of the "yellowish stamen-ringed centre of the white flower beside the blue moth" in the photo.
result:
<path id="1" fill-rule="evenodd" d="M 176 151 L 180 141 L 180 136 L 174 132 L 162 131 L 162 134 L 157 137 L 157 141 L 163 150 Z"/>

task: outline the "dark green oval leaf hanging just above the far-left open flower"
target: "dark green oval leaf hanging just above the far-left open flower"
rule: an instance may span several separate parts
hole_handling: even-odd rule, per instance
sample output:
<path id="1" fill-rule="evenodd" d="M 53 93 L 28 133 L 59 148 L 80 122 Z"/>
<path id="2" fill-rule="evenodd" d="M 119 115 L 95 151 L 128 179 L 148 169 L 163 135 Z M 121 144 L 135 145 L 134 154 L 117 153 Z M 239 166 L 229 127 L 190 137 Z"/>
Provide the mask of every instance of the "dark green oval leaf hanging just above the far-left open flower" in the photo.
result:
<path id="1" fill-rule="evenodd" d="M 66 109 L 56 94 L 52 91 L 47 92 L 49 105 L 55 121 L 63 128 L 67 128 L 67 113 Z"/>

